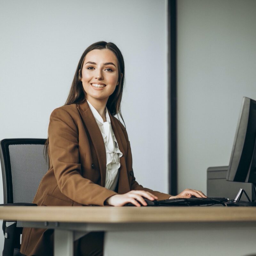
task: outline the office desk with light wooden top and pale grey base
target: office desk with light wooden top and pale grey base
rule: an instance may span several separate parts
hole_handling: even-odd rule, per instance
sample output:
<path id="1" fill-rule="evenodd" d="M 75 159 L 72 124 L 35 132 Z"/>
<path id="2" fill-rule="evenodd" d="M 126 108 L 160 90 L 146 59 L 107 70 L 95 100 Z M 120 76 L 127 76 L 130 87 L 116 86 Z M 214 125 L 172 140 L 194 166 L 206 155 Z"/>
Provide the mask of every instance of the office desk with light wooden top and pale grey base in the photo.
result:
<path id="1" fill-rule="evenodd" d="M 104 255 L 256 255 L 256 207 L 1 206 L 0 219 L 54 228 L 54 255 L 105 231 Z"/>

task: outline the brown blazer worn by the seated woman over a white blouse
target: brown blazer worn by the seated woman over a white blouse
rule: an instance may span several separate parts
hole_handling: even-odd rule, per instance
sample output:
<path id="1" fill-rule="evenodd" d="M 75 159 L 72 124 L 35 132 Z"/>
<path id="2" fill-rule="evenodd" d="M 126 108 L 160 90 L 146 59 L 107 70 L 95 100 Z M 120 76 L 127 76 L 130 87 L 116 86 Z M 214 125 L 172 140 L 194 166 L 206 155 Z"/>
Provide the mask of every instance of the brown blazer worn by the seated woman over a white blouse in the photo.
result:
<path id="1" fill-rule="evenodd" d="M 109 112 L 108 112 L 109 113 Z M 104 205 L 116 193 L 146 190 L 159 200 L 170 195 L 143 188 L 135 181 L 132 152 L 121 122 L 110 116 L 111 126 L 123 156 L 120 157 L 116 192 L 104 188 L 106 151 L 104 141 L 87 101 L 56 108 L 48 128 L 50 169 L 44 175 L 34 203 L 45 206 Z M 23 228 L 21 253 L 53 255 L 53 230 Z"/>

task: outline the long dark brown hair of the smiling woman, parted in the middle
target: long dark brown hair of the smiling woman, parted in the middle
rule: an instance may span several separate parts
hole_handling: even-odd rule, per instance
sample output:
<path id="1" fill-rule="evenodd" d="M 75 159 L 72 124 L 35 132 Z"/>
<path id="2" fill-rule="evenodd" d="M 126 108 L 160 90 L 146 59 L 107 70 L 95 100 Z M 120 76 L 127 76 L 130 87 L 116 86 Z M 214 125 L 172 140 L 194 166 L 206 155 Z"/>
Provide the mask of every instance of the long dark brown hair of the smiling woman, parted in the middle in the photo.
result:
<path id="1" fill-rule="evenodd" d="M 76 73 L 73 79 L 73 82 L 71 84 L 71 88 L 68 94 L 68 99 L 66 100 L 64 105 L 70 105 L 70 104 L 80 104 L 86 101 L 86 92 L 84 91 L 84 87 L 81 81 L 81 70 L 84 64 L 85 56 L 88 52 L 95 50 L 95 49 L 109 49 L 112 51 L 117 58 L 117 66 L 118 66 L 118 86 L 116 86 L 115 91 L 109 96 L 107 101 L 107 108 L 112 116 L 114 115 L 120 115 L 123 122 L 123 116 L 121 113 L 121 100 L 123 95 L 123 87 L 124 87 L 124 58 L 119 50 L 119 48 L 114 43 L 107 43 L 105 41 L 96 42 L 94 44 L 91 44 L 88 46 L 85 51 L 83 52 L 77 68 Z M 121 75 L 123 74 L 123 76 Z M 124 124 L 125 125 L 125 124 Z M 45 141 L 44 144 L 44 155 L 46 158 L 46 155 L 48 153 L 48 147 L 49 147 L 49 137 Z M 50 163 L 49 163 L 50 164 Z"/>

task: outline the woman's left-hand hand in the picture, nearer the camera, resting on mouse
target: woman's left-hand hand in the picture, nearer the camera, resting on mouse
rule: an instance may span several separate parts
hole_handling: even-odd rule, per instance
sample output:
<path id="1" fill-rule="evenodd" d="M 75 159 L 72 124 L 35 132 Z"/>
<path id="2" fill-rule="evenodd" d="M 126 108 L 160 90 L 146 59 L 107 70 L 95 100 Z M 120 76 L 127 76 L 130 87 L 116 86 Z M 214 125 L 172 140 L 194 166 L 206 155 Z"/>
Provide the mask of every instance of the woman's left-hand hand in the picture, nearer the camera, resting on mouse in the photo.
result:
<path id="1" fill-rule="evenodd" d="M 132 203 L 135 206 L 141 206 L 142 205 L 147 205 L 143 197 L 153 201 L 154 199 L 157 199 L 157 196 L 154 196 L 153 194 L 144 191 L 144 190 L 132 190 L 129 191 L 128 193 L 125 194 L 116 194 L 114 196 L 108 197 L 108 199 L 105 201 L 106 205 L 113 205 L 113 206 L 123 206 L 124 204 L 127 203 Z M 139 202 L 137 202 L 138 200 Z"/>

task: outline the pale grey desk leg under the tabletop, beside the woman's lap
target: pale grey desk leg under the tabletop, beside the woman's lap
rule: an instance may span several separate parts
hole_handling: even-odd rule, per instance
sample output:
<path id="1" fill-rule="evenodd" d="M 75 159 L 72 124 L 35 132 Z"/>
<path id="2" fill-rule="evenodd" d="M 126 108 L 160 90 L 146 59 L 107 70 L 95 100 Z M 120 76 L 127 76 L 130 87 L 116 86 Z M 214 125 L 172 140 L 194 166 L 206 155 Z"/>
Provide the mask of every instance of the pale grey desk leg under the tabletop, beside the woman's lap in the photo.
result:
<path id="1" fill-rule="evenodd" d="M 72 256 L 74 246 L 72 230 L 54 230 L 54 256 Z"/>

